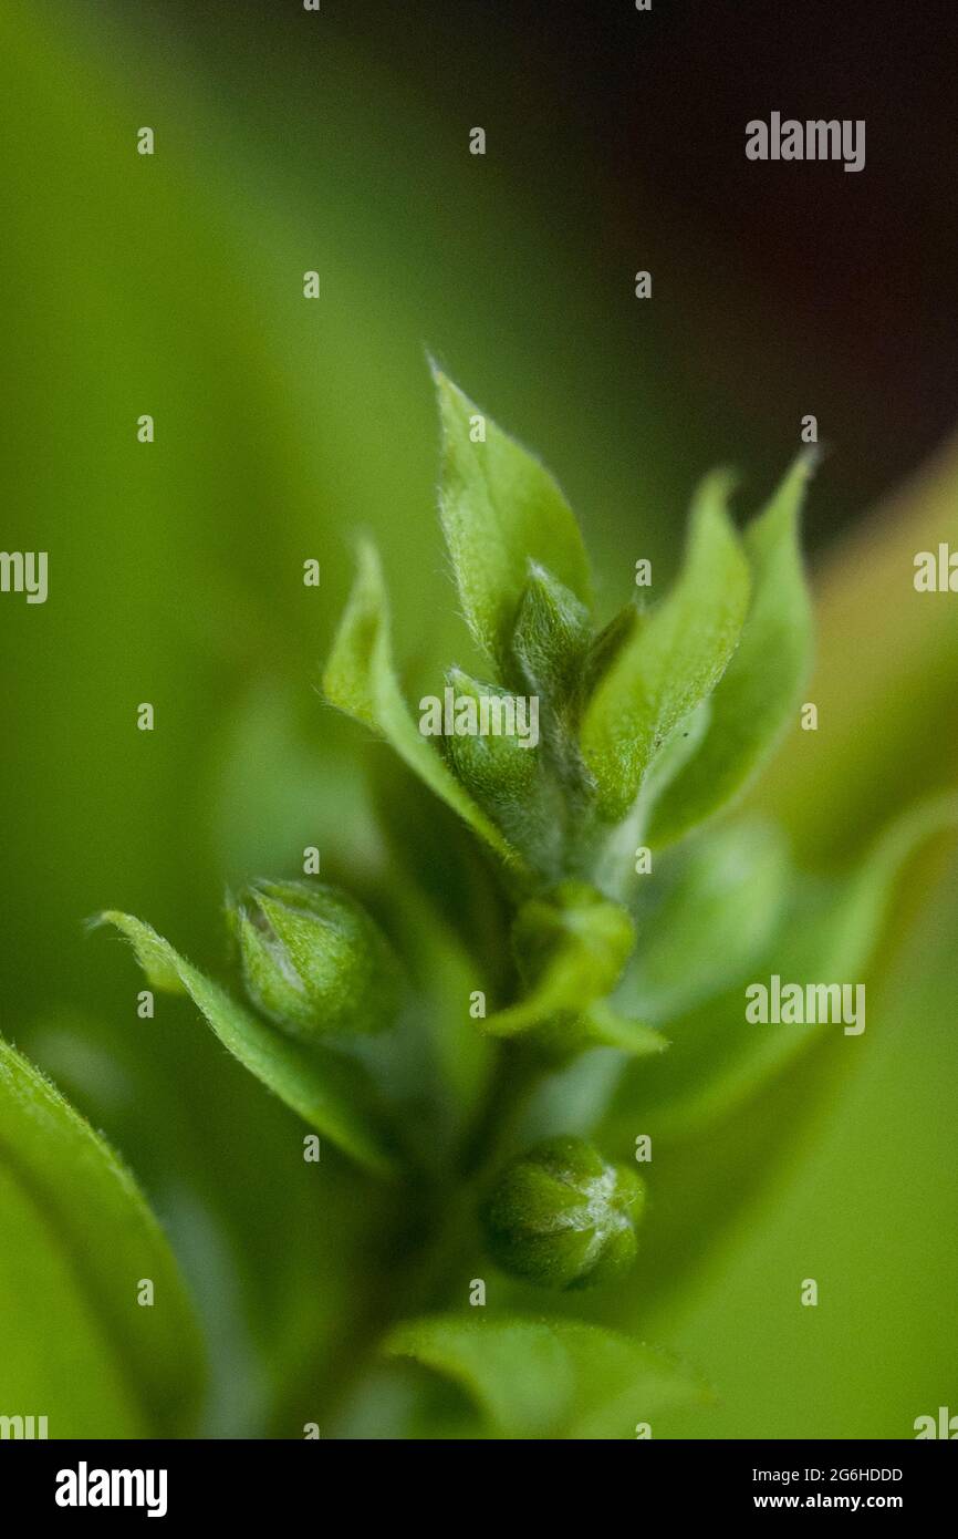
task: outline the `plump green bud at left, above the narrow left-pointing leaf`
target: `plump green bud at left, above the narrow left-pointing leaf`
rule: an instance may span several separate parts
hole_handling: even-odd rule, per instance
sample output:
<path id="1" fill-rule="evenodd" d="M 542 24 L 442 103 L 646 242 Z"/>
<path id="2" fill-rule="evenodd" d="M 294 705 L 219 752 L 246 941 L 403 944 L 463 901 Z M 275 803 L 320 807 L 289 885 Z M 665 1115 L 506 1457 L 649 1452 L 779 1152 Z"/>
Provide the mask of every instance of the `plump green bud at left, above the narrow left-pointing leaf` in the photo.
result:
<path id="1" fill-rule="evenodd" d="M 294 1037 L 380 1031 L 398 968 L 364 908 L 332 886 L 255 882 L 228 910 L 254 1005 Z"/>

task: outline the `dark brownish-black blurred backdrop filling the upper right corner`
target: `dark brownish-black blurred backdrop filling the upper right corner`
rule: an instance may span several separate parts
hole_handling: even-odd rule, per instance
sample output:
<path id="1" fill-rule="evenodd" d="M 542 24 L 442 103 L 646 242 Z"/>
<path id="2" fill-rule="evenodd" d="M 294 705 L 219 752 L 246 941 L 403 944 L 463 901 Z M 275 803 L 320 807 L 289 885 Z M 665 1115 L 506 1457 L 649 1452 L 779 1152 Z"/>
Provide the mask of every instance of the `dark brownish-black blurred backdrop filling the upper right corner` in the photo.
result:
<path id="1" fill-rule="evenodd" d="M 324 34 L 297 0 L 161 12 L 214 77 L 246 54 L 291 94 L 317 89 Z M 587 252 L 609 339 L 634 325 L 630 274 L 652 269 L 649 346 L 697 462 L 746 443 L 773 480 L 817 414 L 833 452 L 812 540 L 952 429 L 958 5 L 323 0 L 323 28 L 437 122 L 486 126 L 509 195 Z M 772 111 L 866 119 L 864 171 L 747 162 L 744 125 Z M 627 371 L 620 402 L 638 409 Z"/>

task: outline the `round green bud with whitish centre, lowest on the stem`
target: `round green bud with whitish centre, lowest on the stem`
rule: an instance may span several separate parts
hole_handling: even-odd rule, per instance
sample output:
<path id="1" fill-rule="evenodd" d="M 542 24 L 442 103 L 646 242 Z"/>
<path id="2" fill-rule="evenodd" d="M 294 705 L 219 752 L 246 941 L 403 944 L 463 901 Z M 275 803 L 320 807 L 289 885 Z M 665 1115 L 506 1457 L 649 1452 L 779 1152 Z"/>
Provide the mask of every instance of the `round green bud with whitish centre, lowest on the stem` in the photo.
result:
<path id="1" fill-rule="evenodd" d="M 609 1282 L 635 1257 L 641 1177 L 583 1139 L 547 1139 L 503 1171 L 483 1213 L 504 1271 L 543 1288 Z"/>

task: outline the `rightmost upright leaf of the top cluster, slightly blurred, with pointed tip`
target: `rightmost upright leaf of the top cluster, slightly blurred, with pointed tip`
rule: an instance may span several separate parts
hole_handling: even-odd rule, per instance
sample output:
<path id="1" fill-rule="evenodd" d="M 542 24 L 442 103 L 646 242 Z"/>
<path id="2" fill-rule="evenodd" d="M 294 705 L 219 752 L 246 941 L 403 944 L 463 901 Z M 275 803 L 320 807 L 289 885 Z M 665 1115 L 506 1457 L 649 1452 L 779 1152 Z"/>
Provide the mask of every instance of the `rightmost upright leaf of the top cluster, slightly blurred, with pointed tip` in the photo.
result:
<path id="1" fill-rule="evenodd" d="M 812 457 L 803 454 L 746 529 L 749 614 L 712 696 L 704 740 L 655 806 L 649 830 L 655 846 L 678 839 L 743 791 L 801 700 L 812 654 L 812 605 L 798 516 L 812 468 Z"/>

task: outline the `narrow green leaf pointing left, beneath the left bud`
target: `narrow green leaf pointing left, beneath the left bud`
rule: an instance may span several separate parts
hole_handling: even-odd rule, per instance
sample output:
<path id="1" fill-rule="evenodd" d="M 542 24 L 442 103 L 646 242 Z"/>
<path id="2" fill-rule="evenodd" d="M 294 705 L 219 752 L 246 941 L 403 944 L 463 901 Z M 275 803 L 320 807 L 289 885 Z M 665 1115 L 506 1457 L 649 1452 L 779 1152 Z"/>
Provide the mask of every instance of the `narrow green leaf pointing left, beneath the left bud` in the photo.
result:
<path id="1" fill-rule="evenodd" d="M 237 1005 L 143 920 L 111 910 L 97 923 L 115 925 L 126 936 L 154 988 L 169 990 L 172 980 L 177 993 L 189 994 L 223 1047 L 317 1133 L 375 1174 L 392 1170 L 392 1154 L 372 1111 L 371 1085 L 357 1062 L 283 1036 Z"/>

